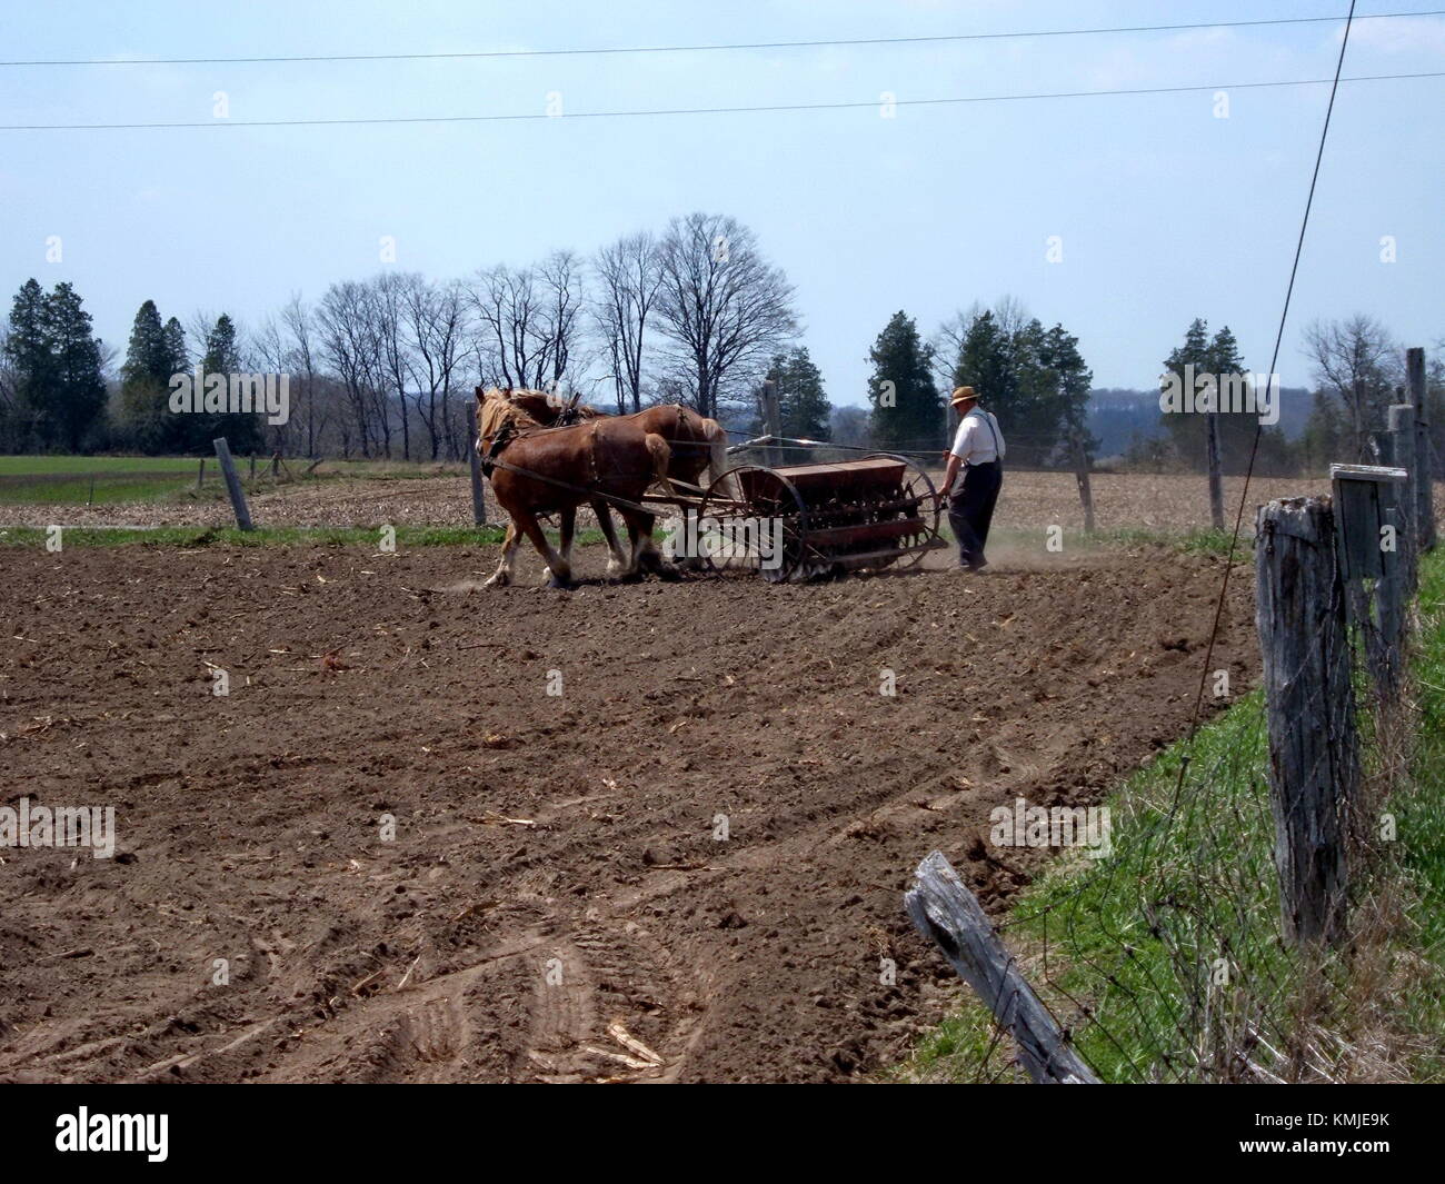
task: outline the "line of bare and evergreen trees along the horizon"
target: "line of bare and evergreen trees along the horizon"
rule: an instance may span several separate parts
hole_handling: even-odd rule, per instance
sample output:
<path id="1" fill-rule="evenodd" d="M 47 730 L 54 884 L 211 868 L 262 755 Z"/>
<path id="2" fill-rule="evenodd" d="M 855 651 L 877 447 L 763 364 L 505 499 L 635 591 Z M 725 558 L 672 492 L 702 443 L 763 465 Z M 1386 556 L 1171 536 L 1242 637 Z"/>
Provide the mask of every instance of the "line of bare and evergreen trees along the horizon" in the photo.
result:
<path id="1" fill-rule="evenodd" d="M 457 279 L 383 270 L 293 295 L 249 333 L 144 301 L 124 356 L 100 341 L 68 283 L 22 285 L 0 324 L 0 451 L 197 454 L 227 435 L 238 454 L 460 460 L 473 386 L 556 389 L 618 413 L 683 402 L 728 426 L 766 432 L 763 392 L 786 437 L 932 452 L 949 438 L 946 396 L 974 386 L 1000 421 L 1010 460 L 1091 463 L 1090 370 L 1078 338 L 1016 299 L 975 304 L 925 335 L 896 312 L 870 351 L 867 408 L 834 408 L 801 337 L 795 289 L 736 218 L 694 213 L 660 234 L 624 234 L 591 256 L 552 252 L 532 265 Z M 1374 319 L 1309 327 L 1314 411 L 1305 437 L 1260 438 L 1257 471 L 1357 458 L 1403 382 L 1402 351 Z M 118 366 L 117 366 L 118 361 Z M 176 374 L 273 373 L 289 380 L 289 418 L 225 411 L 178 415 Z M 1244 369 L 1228 327 L 1195 319 L 1165 370 Z M 1438 398 L 1439 359 L 1432 359 Z M 1445 416 L 1439 416 L 1445 419 Z M 1204 416 L 1162 416 L 1131 467 L 1199 471 Z M 1225 471 L 1243 471 L 1254 419 L 1220 418 Z"/>

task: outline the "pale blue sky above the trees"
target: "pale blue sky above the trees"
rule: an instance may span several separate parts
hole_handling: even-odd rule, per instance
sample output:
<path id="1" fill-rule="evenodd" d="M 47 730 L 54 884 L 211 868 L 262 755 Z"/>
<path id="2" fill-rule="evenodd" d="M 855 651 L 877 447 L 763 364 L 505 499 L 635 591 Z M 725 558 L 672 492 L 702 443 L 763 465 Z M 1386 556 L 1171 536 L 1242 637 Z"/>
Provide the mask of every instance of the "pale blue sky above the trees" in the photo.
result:
<path id="1" fill-rule="evenodd" d="M 1360 13 L 1426 9 L 1380 0 Z M 55 3 L 3 0 L 0 58 L 454 52 L 905 38 L 1342 14 L 1324 0 L 892 3 Z M 0 68 L 0 288 L 71 280 L 124 346 L 142 301 L 254 324 L 299 291 L 591 252 L 691 210 L 753 227 L 798 288 L 835 403 L 899 308 L 925 333 L 1013 295 L 1079 337 L 1097 386 L 1153 385 L 1192 317 L 1269 363 L 1328 87 L 879 110 L 577 120 L 566 113 L 874 103 L 1324 78 L 1338 23 L 929 45 L 428 62 Z M 1345 75 L 1445 71 L 1445 17 L 1355 25 Z M 212 120 L 212 95 L 230 126 Z M 546 121 L 240 127 L 244 120 L 538 113 Z M 1445 335 L 1445 78 L 1341 87 L 1285 340 L 1355 311 Z M 212 126 L 214 124 L 214 126 Z M 64 260 L 46 262 L 61 236 Z M 1062 262 L 1046 260 L 1049 236 Z M 1394 236 L 1397 262 L 1380 262 Z"/>

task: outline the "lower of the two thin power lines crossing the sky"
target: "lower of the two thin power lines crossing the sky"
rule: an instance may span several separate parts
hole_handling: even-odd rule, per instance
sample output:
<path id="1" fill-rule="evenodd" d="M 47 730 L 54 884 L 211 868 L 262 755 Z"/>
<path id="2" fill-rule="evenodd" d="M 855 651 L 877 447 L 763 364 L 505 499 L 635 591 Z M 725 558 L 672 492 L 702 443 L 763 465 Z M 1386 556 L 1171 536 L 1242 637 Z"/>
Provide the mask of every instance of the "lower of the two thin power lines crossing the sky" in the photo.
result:
<path id="1" fill-rule="evenodd" d="M 1194 87 L 1134 87 L 1108 91 L 1048 91 L 1036 94 L 977 94 L 954 98 L 897 98 L 894 107 L 948 107 L 965 103 L 1016 103 L 1045 98 L 1098 98 L 1104 95 L 1139 94 L 1186 94 L 1191 91 L 1240 91 L 1269 87 L 1319 87 L 1331 82 L 1387 82 L 1407 78 L 1445 78 L 1445 71 L 1420 74 L 1358 74 L 1353 78 L 1285 78 L 1269 82 L 1211 82 Z M 195 120 L 172 123 L 4 123 L 0 132 L 136 132 L 182 127 L 355 127 L 363 124 L 410 124 L 410 123 L 530 123 L 543 120 L 578 119 L 646 119 L 652 116 L 734 116 L 766 114 L 782 111 L 855 111 L 877 110 L 877 98 L 850 103 L 775 103 L 757 107 L 665 107 L 620 111 L 574 111 L 565 116 L 549 116 L 543 111 L 525 111 L 491 116 L 374 116 L 345 119 L 272 119 L 272 120 Z"/>

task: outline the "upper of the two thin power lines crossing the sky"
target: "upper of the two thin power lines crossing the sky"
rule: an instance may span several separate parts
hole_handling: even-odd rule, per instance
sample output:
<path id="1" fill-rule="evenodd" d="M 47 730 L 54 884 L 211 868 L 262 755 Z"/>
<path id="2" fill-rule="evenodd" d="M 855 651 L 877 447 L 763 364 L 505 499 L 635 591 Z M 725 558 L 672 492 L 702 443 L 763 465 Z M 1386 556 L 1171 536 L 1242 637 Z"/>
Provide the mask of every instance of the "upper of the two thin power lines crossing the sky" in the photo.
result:
<path id="1" fill-rule="evenodd" d="M 1409 16 L 1445 16 L 1445 9 L 1405 13 L 1370 13 L 1355 20 L 1393 20 Z M 941 33 L 916 38 L 840 38 L 832 40 L 759 40 L 718 45 L 630 45 L 594 49 L 483 49 L 438 53 L 298 53 L 251 58 L 69 58 L 0 62 L 0 67 L 111 67 L 111 65 L 251 65 L 282 62 L 419 62 L 474 58 L 582 58 L 623 53 L 717 53 L 744 49 L 831 49 L 864 45 L 941 45 L 970 40 L 1010 40 L 1019 38 L 1078 38 L 1105 33 L 1182 33 L 1198 29 L 1254 29 L 1272 25 L 1335 23 L 1335 16 L 1293 16 L 1263 20 L 1208 20 L 1192 25 L 1123 25 L 1092 29 L 1025 29 L 1006 33 Z"/>

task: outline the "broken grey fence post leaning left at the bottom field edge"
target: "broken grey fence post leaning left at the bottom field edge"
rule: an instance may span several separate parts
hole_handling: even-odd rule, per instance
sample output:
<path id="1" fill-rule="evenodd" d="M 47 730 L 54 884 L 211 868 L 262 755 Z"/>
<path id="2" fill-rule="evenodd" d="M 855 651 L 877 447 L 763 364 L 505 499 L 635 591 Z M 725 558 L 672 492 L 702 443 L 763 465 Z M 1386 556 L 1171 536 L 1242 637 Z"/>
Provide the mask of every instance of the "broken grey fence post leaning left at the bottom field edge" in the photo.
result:
<path id="1" fill-rule="evenodd" d="M 1033 987 L 1019 973 L 1013 954 L 998 940 L 974 893 L 942 851 L 933 851 L 913 875 L 903 895 L 913 925 L 938 943 L 944 957 L 993 1012 L 998 1026 L 1013 1034 L 1019 1057 L 1035 1081 L 1046 1084 L 1098 1084 L 1094 1074 L 1069 1047 Z"/>

